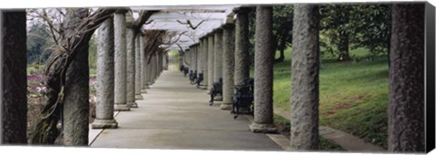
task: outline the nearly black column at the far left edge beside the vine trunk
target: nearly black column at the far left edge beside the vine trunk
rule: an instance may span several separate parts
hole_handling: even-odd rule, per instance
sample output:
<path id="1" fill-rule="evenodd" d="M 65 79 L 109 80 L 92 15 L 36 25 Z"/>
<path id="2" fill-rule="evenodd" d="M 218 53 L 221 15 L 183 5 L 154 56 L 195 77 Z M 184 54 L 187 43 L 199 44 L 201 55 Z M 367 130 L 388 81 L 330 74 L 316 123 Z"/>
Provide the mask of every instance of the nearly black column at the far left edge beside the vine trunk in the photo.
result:
<path id="1" fill-rule="evenodd" d="M 3 144 L 26 143 L 27 81 L 25 11 L 0 12 L 2 32 L 2 108 Z M 1 34 L 0 33 L 0 34 Z"/>

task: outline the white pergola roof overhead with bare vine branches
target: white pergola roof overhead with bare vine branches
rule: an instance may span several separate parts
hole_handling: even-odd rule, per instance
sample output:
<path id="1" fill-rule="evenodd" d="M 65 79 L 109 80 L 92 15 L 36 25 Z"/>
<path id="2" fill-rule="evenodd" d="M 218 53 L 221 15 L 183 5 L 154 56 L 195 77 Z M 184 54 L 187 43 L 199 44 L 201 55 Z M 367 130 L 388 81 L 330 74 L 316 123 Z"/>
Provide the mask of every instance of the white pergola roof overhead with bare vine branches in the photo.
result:
<path id="1" fill-rule="evenodd" d="M 233 8 L 241 5 L 174 5 L 174 6 L 141 6 L 131 7 L 134 11 L 134 18 L 137 18 L 137 11 L 159 10 L 160 12 L 151 15 L 147 24 L 143 25 L 145 30 L 167 30 L 182 34 L 175 44 L 169 46 L 170 50 L 179 50 L 179 44 L 183 50 L 190 45 L 199 42 L 199 38 L 220 27 L 227 21 L 233 20 Z M 191 22 L 196 27 L 193 30 L 188 24 Z"/>

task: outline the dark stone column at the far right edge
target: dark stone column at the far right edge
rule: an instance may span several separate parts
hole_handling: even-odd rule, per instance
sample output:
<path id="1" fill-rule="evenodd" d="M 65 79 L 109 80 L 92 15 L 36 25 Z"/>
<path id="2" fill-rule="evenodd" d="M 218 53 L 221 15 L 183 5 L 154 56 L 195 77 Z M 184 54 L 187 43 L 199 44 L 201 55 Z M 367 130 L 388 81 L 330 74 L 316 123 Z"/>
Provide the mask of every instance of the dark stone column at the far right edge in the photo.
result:
<path id="1" fill-rule="evenodd" d="M 424 4 L 392 5 L 390 151 L 425 151 L 424 7 Z"/>

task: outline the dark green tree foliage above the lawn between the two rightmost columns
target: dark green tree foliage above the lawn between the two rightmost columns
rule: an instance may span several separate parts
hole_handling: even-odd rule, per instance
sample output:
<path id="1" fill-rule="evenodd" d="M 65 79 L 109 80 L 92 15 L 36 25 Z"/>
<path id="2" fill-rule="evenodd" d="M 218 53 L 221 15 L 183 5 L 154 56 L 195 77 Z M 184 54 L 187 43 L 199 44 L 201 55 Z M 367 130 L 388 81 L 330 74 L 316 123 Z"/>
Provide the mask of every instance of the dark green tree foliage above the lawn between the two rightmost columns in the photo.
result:
<path id="1" fill-rule="evenodd" d="M 349 49 L 348 42 L 351 49 L 369 49 L 372 58 L 389 53 L 391 5 L 322 5 L 320 15 L 322 54 L 341 57 Z"/>

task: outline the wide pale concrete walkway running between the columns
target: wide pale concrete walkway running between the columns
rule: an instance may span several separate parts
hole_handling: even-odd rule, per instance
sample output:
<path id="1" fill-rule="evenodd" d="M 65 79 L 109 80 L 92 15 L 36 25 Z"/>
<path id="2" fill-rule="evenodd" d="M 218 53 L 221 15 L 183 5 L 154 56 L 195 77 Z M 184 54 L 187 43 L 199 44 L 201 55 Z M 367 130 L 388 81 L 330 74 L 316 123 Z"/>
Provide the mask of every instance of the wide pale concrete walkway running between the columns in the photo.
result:
<path id="1" fill-rule="evenodd" d="M 246 117 L 233 120 L 219 102 L 178 71 L 165 71 L 137 101 L 138 108 L 119 112 L 119 128 L 94 131 L 91 147 L 182 150 L 283 150 L 268 136 L 249 130 Z M 95 134 L 97 133 L 97 134 Z"/>

